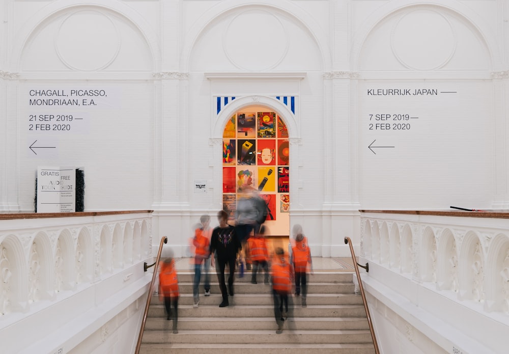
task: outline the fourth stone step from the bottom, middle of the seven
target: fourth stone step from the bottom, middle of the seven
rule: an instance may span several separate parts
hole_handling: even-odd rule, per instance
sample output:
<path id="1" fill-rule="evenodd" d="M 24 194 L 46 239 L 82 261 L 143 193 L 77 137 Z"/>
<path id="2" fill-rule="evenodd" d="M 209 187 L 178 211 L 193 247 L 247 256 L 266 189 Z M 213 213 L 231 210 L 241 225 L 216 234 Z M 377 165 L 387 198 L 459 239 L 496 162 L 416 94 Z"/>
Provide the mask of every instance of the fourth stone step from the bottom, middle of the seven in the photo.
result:
<path id="1" fill-rule="evenodd" d="M 193 308 L 190 305 L 179 306 L 179 317 L 270 317 L 274 315 L 272 305 L 236 305 L 235 296 L 230 297 L 230 306 L 220 308 L 219 303 L 213 306 Z M 290 317 L 365 317 L 362 305 L 308 305 L 302 308 L 300 303 L 292 306 L 289 302 Z M 163 305 L 151 305 L 148 317 L 166 317 Z"/>

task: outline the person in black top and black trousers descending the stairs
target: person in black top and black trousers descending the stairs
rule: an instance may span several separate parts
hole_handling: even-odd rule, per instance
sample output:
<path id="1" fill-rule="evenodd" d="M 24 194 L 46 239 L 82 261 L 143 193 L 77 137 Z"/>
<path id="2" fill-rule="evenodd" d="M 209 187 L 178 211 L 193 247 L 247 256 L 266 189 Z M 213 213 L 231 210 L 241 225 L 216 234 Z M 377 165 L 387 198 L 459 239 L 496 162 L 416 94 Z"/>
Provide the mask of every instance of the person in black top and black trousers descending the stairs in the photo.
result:
<path id="1" fill-rule="evenodd" d="M 217 214 L 219 226 L 212 230 L 210 238 L 210 253 L 215 256 L 217 280 L 222 294 L 222 303 L 219 307 L 228 306 L 228 293 L 233 296 L 233 280 L 235 276 L 235 263 L 237 253 L 241 250 L 239 239 L 235 233 L 235 228 L 229 224 L 228 213 L 224 210 Z M 224 281 L 224 268 L 226 265 L 230 267 L 230 277 L 228 278 L 228 291 Z"/>

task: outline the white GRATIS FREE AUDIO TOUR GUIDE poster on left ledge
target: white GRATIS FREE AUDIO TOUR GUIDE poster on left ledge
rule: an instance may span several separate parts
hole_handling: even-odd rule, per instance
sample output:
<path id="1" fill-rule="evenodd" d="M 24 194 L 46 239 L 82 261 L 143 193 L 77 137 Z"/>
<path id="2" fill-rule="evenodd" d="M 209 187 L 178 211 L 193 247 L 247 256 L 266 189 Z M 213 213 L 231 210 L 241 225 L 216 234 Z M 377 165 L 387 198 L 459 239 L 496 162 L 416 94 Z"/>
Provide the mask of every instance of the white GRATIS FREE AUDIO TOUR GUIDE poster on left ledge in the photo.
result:
<path id="1" fill-rule="evenodd" d="M 37 169 L 37 212 L 74 212 L 76 169 L 39 167 Z"/>

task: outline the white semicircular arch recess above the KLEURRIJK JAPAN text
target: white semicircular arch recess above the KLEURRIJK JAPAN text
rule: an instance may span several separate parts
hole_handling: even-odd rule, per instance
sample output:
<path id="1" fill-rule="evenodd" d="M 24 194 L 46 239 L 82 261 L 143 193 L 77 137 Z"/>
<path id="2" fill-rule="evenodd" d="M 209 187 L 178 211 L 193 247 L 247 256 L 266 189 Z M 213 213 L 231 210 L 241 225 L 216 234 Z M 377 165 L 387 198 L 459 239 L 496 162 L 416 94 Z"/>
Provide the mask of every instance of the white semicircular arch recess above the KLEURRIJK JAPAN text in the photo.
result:
<path id="1" fill-rule="evenodd" d="M 426 29 L 429 28 L 431 32 L 428 34 L 431 35 L 432 33 L 435 33 L 435 29 L 438 29 L 438 27 L 433 27 L 435 21 L 429 21 L 429 18 L 427 20 L 426 16 L 434 16 L 435 19 L 440 20 L 441 15 L 445 20 L 443 21 L 445 28 L 447 27 L 446 22 L 449 22 L 451 25 L 451 32 L 447 33 L 447 35 L 451 35 L 451 37 L 447 37 L 445 35 L 440 36 L 440 32 L 436 32 L 436 34 L 439 35 L 438 40 L 443 41 L 443 43 L 437 43 L 435 41 L 433 45 L 440 44 L 437 48 L 439 49 L 439 53 L 444 54 L 444 56 L 442 56 L 441 59 L 433 57 L 433 59 L 437 60 L 437 65 L 434 67 L 425 68 L 418 67 L 417 65 L 417 67 L 411 68 L 415 65 L 412 65 L 412 63 L 405 60 L 411 58 L 411 56 L 408 55 L 409 53 L 401 52 L 401 55 L 398 56 L 398 53 L 393 52 L 393 46 L 377 45 L 377 43 L 390 43 L 391 40 L 388 36 L 394 35 L 394 32 L 390 29 L 388 29 L 388 31 L 384 31 L 384 26 L 392 26 L 402 17 L 415 11 L 422 11 L 422 14 L 425 15 L 420 16 L 420 20 L 423 21 L 422 25 L 421 23 L 413 23 L 414 29 L 417 31 L 426 31 Z M 435 16 L 437 14 L 438 16 Z M 448 29 L 446 30 L 447 32 L 449 31 Z M 460 31 L 462 33 L 467 33 L 472 40 L 465 40 L 465 43 L 457 42 L 456 39 L 454 39 L 454 34 Z M 386 37 L 382 39 L 380 36 Z M 413 38 L 414 40 L 417 37 L 419 37 L 418 34 L 409 36 L 409 38 Z M 354 71 L 362 71 L 363 69 L 366 69 L 367 60 L 369 60 L 370 56 L 372 56 L 372 51 L 377 51 L 377 58 L 384 58 L 384 60 L 378 60 L 378 64 L 376 61 L 371 61 L 372 65 L 369 66 L 369 70 L 377 69 L 377 67 L 374 67 L 373 65 L 379 66 L 378 68 L 383 66 L 384 70 L 414 71 L 415 69 L 447 70 L 450 68 L 492 70 L 493 68 L 503 67 L 503 61 L 498 49 L 496 38 L 496 34 L 493 33 L 490 23 L 487 23 L 479 16 L 478 13 L 468 6 L 460 4 L 454 0 L 444 0 L 440 2 L 440 4 L 422 4 L 420 2 L 409 4 L 407 1 L 392 1 L 380 6 L 376 12 L 363 21 L 353 39 L 350 63 L 352 64 Z M 450 51 L 448 51 L 449 49 L 447 49 L 447 45 L 445 47 L 441 45 L 447 44 L 448 40 L 453 40 L 455 42 L 454 49 L 450 47 Z M 468 43 L 470 43 L 470 45 L 468 45 Z M 475 48 L 472 48 L 472 43 L 475 43 Z M 412 50 L 411 46 L 408 46 L 407 49 Z M 445 49 L 447 49 L 446 52 L 440 52 Z M 436 51 L 430 51 L 429 48 L 426 48 L 426 46 L 421 46 L 419 50 L 422 50 L 423 57 L 436 56 L 439 54 Z M 398 52 L 398 50 L 396 50 L 396 52 Z M 468 62 L 467 59 L 471 56 L 465 56 L 465 53 L 468 52 L 476 52 L 476 55 L 478 55 L 479 58 L 483 58 L 483 60 L 479 61 L 474 68 L 471 68 L 471 62 Z M 396 56 L 394 54 L 396 54 Z M 420 57 L 423 59 L 422 55 Z M 418 63 L 414 62 L 413 64 Z M 465 66 L 465 64 L 467 65 Z M 413 72 L 412 75 L 416 75 L 416 73 Z"/>

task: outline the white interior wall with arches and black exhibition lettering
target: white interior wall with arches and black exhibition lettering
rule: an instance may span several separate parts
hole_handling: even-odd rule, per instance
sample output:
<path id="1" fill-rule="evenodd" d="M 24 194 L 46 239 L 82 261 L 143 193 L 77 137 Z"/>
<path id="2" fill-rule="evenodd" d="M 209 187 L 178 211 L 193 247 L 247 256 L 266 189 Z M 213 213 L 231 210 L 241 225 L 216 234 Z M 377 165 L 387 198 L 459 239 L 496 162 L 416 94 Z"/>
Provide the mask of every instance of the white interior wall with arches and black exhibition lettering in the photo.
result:
<path id="1" fill-rule="evenodd" d="M 0 210 L 33 210 L 37 166 L 75 165 L 85 170 L 86 210 L 153 208 L 155 238 L 167 235 L 185 255 L 191 225 L 221 207 L 214 95 L 270 106 L 282 94 L 298 97 L 291 224 L 309 230 L 314 255 L 347 255 L 346 235 L 359 243 L 357 209 L 505 209 L 508 7 L 4 0 Z M 86 108 L 32 107 L 39 88 L 108 96 Z M 392 88 L 456 94 L 367 95 Z M 31 114 L 55 113 L 86 124 L 29 130 Z M 370 114 L 419 118 L 410 130 L 370 130 Z M 55 149 L 35 155 L 35 141 Z M 207 193 L 194 194 L 194 180 L 206 180 Z"/>

